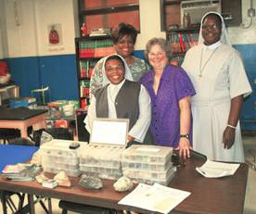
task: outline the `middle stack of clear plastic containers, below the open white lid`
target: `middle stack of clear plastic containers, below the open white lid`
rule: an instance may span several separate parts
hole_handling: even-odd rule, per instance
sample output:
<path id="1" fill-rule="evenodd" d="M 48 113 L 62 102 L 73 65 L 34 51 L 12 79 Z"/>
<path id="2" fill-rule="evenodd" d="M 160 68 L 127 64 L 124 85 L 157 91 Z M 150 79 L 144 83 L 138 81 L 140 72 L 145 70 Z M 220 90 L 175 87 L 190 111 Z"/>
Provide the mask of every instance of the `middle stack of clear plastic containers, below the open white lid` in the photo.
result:
<path id="1" fill-rule="evenodd" d="M 89 145 L 80 154 L 80 170 L 83 174 L 103 179 L 122 177 L 121 153 L 125 146 Z"/>

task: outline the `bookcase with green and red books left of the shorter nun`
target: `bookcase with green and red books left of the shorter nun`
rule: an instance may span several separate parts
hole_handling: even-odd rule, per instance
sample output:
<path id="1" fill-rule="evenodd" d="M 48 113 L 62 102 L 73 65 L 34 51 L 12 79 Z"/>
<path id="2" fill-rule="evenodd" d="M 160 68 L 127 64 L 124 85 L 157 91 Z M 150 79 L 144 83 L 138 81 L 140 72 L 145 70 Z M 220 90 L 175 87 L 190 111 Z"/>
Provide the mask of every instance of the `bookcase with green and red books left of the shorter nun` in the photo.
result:
<path id="1" fill-rule="evenodd" d="M 115 49 L 110 36 L 75 38 L 75 45 L 79 103 L 86 109 L 92 70 L 100 58 L 115 53 Z"/>

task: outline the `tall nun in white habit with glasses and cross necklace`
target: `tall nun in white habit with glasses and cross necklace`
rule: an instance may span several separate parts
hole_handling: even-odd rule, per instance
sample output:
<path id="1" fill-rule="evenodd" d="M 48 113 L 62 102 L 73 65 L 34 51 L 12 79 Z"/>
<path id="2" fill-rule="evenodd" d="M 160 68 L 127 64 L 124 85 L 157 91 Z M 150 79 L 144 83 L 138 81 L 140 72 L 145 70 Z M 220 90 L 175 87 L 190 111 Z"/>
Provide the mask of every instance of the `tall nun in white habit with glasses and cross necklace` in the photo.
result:
<path id="1" fill-rule="evenodd" d="M 244 162 L 239 116 L 252 89 L 219 13 L 203 16 L 198 45 L 187 51 L 181 66 L 196 90 L 191 99 L 193 150 L 211 160 Z"/>

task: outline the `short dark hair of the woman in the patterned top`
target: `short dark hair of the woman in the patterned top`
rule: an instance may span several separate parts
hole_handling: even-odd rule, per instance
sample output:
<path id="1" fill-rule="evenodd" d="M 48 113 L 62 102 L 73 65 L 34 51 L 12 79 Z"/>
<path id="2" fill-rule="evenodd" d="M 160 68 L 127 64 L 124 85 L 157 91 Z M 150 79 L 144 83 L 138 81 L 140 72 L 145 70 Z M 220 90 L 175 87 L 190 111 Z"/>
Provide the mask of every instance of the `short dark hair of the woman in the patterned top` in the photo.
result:
<path id="1" fill-rule="evenodd" d="M 113 43 L 116 44 L 120 38 L 125 35 L 129 35 L 131 36 L 134 45 L 137 39 L 137 34 L 138 32 L 131 24 L 121 22 L 118 24 L 118 27 L 112 29 L 111 38 Z"/>

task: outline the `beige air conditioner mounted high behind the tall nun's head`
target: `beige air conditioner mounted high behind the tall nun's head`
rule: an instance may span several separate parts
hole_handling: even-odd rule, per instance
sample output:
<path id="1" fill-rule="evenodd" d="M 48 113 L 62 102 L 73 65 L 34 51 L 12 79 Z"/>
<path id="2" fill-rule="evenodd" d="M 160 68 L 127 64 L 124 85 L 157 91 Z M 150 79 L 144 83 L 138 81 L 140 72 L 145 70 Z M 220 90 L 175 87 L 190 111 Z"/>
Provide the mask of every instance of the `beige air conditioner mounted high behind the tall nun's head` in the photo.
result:
<path id="1" fill-rule="evenodd" d="M 221 0 L 188 0 L 180 3 L 180 20 L 183 26 L 183 16 L 190 14 L 191 24 L 200 24 L 202 16 L 209 11 L 221 13 Z"/>

